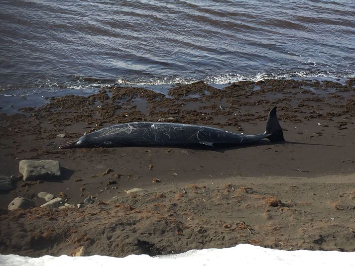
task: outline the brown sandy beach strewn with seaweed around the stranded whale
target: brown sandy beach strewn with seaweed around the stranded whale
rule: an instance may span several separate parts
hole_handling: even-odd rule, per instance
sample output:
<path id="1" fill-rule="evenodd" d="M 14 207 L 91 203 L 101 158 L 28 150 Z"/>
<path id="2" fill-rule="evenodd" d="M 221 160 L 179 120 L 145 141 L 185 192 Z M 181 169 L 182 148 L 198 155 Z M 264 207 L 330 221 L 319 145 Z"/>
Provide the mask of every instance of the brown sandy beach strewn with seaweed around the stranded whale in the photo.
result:
<path id="1" fill-rule="evenodd" d="M 188 149 L 60 150 L 85 132 L 132 121 L 265 131 L 269 109 L 285 142 Z M 203 82 L 168 95 L 112 87 L 90 96 L 0 114 L 0 174 L 18 177 L 0 194 L 0 253 L 171 254 L 249 243 L 283 250 L 355 251 L 355 80 Z M 59 135 L 62 134 L 62 135 Z M 58 136 L 59 135 L 59 136 Z M 19 161 L 57 160 L 62 178 L 22 181 Z M 142 191 L 127 194 L 132 188 Z M 41 191 L 84 208 L 7 210 Z"/>

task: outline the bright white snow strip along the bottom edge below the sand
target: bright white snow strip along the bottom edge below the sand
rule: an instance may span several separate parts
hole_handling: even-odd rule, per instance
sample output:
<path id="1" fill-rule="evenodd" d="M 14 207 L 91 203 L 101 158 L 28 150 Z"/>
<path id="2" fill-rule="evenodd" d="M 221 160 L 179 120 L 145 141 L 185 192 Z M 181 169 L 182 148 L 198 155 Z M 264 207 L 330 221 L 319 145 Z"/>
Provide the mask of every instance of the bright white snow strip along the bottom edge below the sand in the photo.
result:
<path id="1" fill-rule="evenodd" d="M 191 250 L 177 255 L 149 257 L 130 255 L 125 258 L 107 256 L 40 258 L 0 255 L 1 266 L 200 266 L 200 265 L 257 265 L 257 266 L 355 266 L 355 252 L 339 251 L 281 251 L 239 244 L 226 249 Z"/>

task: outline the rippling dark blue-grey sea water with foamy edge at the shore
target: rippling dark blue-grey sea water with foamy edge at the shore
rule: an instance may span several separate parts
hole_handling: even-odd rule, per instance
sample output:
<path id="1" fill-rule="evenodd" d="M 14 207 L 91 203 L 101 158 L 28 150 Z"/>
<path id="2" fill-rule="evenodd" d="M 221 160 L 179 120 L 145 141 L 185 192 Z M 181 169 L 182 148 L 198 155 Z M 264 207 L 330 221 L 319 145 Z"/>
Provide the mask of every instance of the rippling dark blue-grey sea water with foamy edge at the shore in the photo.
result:
<path id="1" fill-rule="evenodd" d="M 3 89 L 354 77 L 355 2 L 1 0 L 0 56 Z"/>

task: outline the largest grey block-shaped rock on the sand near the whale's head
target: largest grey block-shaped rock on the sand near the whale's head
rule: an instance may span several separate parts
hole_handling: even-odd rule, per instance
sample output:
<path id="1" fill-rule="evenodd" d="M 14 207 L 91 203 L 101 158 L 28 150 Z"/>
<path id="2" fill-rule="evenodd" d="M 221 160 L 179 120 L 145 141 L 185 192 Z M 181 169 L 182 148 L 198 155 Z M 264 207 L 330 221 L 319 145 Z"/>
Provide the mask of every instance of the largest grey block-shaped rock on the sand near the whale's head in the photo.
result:
<path id="1" fill-rule="evenodd" d="M 23 181 L 61 177 L 59 162 L 53 160 L 22 160 L 18 171 L 23 175 Z"/>

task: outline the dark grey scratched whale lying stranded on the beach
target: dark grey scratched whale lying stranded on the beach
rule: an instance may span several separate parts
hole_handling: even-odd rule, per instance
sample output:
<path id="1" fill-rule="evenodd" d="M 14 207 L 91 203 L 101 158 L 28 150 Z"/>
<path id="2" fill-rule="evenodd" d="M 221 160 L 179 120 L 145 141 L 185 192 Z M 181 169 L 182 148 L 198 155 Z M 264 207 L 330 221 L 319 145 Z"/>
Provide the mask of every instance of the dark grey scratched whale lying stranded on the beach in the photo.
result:
<path id="1" fill-rule="evenodd" d="M 132 122 L 94 131 L 60 149 L 94 147 L 198 147 L 240 145 L 264 138 L 272 142 L 284 141 L 281 126 L 272 107 L 266 122 L 266 131 L 257 135 L 237 134 L 223 129 L 177 123 Z"/>

